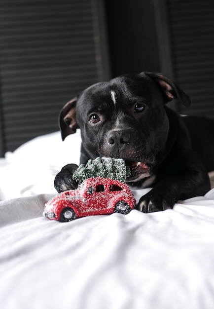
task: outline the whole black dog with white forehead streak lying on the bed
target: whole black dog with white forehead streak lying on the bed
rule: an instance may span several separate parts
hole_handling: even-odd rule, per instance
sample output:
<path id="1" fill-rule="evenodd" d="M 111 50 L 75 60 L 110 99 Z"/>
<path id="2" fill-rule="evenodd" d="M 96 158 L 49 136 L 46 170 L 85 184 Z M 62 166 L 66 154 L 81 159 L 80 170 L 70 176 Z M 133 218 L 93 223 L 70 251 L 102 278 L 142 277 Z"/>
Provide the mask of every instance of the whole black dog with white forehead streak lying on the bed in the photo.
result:
<path id="1" fill-rule="evenodd" d="M 214 170 L 214 120 L 178 116 L 165 105 L 174 98 L 190 105 L 189 97 L 159 73 L 97 83 L 61 111 L 62 138 L 80 128 L 80 163 L 97 156 L 124 158 L 131 168 L 127 182 L 153 187 L 141 197 L 139 210 L 173 208 L 180 199 L 209 191 L 208 171 Z M 56 176 L 58 192 L 77 187 L 76 168 L 69 164 Z"/>

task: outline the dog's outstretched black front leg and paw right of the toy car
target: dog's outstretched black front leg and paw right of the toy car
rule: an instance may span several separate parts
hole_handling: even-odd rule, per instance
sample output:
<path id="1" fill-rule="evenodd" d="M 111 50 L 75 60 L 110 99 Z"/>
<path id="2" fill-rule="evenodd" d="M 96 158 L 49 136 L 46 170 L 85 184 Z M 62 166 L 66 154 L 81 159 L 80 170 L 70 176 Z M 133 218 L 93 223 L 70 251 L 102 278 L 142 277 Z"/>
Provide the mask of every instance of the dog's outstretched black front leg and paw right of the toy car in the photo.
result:
<path id="1" fill-rule="evenodd" d="M 182 176 L 165 177 L 140 198 L 138 209 L 145 213 L 172 209 L 178 200 L 204 195 L 209 190 L 206 172 L 192 171 Z"/>

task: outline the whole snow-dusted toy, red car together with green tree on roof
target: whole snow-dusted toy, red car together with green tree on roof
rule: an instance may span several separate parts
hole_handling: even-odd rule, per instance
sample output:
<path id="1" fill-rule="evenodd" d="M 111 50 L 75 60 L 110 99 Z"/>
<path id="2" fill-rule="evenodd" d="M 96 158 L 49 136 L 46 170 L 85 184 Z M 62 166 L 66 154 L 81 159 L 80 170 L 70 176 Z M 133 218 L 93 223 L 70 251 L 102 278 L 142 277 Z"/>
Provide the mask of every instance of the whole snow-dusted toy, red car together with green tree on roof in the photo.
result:
<path id="1" fill-rule="evenodd" d="M 58 194 L 45 204 L 43 216 L 67 222 L 76 218 L 113 212 L 129 213 L 136 204 L 125 179 L 130 170 L 123 159 L 96 158 L 81 164 L 73 174 L 76 190 Z"/>

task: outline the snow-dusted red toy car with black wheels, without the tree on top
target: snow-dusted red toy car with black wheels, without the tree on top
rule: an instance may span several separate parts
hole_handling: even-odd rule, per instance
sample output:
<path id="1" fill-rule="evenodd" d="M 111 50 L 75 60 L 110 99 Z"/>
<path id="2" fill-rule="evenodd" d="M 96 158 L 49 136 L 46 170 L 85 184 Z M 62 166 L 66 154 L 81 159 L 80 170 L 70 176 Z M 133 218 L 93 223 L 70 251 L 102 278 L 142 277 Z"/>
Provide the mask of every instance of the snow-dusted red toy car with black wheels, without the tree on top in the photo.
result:
<path id="1" fill-rule="evenodd" d="M 113 212 L 127 214 L 135 204 L 128 185 L 110 178 L 95 177 L 85 180 L 76 190 L 65 191 L 50 199 L 45 204 L 43 216 L 67 222 Z"/>

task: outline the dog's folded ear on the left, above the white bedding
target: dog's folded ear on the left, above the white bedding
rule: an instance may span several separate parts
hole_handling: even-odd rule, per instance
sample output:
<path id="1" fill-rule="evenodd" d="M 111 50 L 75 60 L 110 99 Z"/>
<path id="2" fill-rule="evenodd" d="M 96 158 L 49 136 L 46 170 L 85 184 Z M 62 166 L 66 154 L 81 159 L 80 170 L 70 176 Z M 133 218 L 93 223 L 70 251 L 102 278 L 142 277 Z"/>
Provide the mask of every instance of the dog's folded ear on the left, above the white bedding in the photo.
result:
<path id="1" fill-rule="evenodd" d="M 76 101 L 77 98 L 73 98 L 60 112 L 59 126 L 63 141 L 66 136 L 75 133 L 76 129 L 78 129 L 78 124 L 76 122 Z"/>

